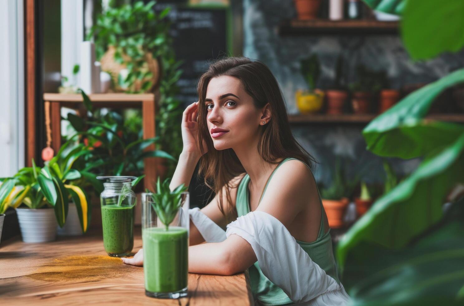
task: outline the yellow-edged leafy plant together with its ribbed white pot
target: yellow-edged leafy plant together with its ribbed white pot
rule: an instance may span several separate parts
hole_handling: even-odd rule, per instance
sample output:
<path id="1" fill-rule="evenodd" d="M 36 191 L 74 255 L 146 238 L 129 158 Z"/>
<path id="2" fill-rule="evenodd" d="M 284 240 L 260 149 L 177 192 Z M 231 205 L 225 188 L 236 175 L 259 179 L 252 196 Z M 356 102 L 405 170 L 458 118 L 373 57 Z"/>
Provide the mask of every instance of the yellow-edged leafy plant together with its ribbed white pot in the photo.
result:
<path id="1" fill-rule="evenodd" d="M 18 209 L 25 242 L 54 240 L 57 222 L 63 227 L 66 221 L 70 197 L 76 203 L 82 231 L 87 231 L 90 221 L 88 197 L 83 189 L 74 184 L 82 174 L 71 169 L 80 156 L 76 154 L 77 150 L 83 148 L 66 155 L 63 150 L 64 147 L 43 168 L 37 167 L 32 160 L 32 167 L 20 169 L 13 177 L 4 179 L 0 186 L 0 208 L 6 210 L 11 206 Z M 21 204 L 24 208 L 20 207 Z M 42 228 L 43 233 L 37 228 Z"/>

